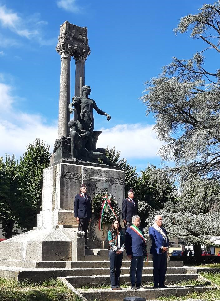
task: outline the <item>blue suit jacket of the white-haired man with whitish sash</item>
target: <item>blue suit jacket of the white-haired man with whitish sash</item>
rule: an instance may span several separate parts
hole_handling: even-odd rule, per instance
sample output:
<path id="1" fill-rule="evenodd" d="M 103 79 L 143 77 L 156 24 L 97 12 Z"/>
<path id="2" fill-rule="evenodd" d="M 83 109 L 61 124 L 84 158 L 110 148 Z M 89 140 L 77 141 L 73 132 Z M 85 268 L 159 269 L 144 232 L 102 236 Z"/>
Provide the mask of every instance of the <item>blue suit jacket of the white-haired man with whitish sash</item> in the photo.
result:
<path id="1" fill-rule="evenodd" d="M 167 236 L 167 231 L 163 227 L 161 227 L 161 230 L 163 230 L 163 232 Z M 167 236 L 167 241 L 166 241 L 165 238 L 163 237 L 163 235 L 160 234 L 160 232 L 158 232 L 154 227 L 150 227 L 148 233 L 151 237 L 151 249 L 150 249 L 151 254 L 162 253 L 162 249 L 161 249 L 162 246 L 169 247 L 168 236 Z"/>

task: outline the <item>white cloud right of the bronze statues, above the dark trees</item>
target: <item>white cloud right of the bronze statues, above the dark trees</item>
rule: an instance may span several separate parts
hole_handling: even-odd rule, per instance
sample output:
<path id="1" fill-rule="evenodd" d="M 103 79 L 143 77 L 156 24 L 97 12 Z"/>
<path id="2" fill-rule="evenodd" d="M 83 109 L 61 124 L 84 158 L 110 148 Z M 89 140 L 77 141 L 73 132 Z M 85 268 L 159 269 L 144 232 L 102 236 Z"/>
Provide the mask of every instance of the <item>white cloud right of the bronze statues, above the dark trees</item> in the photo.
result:
<path id="1" fill-rule="evenodd" d="M 110 129 L 102 129 L 97 147 L 115 146 L 117 151 L 121 151 L 121 158 L 126 159 L 159 158 L 158 149 L 163 144 L 156 138 L 152 128 L 153 125 L 146 124 L 118 124 Z"/>

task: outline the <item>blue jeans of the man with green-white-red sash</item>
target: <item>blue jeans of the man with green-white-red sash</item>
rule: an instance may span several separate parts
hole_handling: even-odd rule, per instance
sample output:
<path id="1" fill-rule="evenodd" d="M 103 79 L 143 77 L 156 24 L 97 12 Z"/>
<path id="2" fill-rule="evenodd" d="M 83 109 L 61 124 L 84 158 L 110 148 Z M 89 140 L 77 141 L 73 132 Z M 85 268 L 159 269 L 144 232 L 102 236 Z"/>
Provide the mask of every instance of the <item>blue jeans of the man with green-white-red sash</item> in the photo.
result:
<path id="1" fill-rule="evenodd" d="M 136 286 L 139 288 L 141 286 L 141 276 L 144 266 L 144 257 L 142 256 L 134 256 L 131 260 L 131 268 L 130 268 L 130 276 L 131 276 L 131 286 Z M 136 281 L 135 281 L 136 276 Z"/>

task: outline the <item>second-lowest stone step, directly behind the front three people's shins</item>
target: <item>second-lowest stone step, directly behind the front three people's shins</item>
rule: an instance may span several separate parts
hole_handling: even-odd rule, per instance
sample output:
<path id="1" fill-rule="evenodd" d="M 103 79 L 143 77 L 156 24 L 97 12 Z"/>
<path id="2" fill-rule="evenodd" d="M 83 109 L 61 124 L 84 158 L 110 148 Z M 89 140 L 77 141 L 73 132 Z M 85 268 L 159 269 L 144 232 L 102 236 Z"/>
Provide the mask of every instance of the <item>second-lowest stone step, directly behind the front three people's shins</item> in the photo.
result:
<path id="1" fill-rule="evenodd" d="M 98 276 L 69 276 L 64 277 L 68 282 L 73 285 L 75 288 L 79 288 L 82 286 L 94 286 L 98 287 L 101 284 L 108 284 L 110 285 L 110 275 L 98 275 Z M 130 283 L 130 274 L 121 275 L 121 283 Z M 165 283 L 178 283 L 183 281 L 188 281 L 192 279 L 198 279 L 197 274 L 167 274 L 165 277 Z M 149 283 L 153 282 L 153 274 L 149 275 L 142 275 L 142 283 Z"/>

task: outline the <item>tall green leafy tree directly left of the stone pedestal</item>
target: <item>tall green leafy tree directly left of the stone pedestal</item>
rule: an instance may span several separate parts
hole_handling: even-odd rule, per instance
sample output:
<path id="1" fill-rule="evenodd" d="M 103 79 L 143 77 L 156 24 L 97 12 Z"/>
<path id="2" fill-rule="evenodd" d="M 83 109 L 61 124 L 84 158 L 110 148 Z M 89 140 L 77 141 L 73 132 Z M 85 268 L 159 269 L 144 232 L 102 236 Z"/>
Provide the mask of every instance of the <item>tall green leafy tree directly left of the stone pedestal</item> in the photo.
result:
<path id="1" fill-rule="evenodd" d="M 24 180 L 22 189 L 26 214 L 20 220 L 19 226 L 27 230 L 36 226 L 42 202 L 43 170 L 49 166 L 50 155 L 49 146 L 36 139 L 27 146 L 23 158 L 20 158 L 19 169 Z"/>

